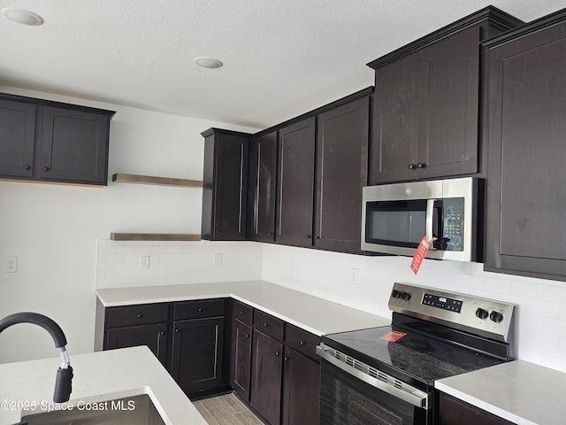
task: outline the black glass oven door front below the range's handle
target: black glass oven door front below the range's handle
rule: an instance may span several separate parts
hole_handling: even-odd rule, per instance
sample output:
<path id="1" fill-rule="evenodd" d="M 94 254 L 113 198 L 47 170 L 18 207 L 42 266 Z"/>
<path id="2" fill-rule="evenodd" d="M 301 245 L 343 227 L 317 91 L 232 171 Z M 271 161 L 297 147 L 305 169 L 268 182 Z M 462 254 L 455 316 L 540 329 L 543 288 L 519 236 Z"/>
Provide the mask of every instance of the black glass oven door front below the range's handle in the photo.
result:
<path id="1" fill-rule="evenodd" d="M 321 360 L 320 425 L 426 424 L 426 410 Z"/>

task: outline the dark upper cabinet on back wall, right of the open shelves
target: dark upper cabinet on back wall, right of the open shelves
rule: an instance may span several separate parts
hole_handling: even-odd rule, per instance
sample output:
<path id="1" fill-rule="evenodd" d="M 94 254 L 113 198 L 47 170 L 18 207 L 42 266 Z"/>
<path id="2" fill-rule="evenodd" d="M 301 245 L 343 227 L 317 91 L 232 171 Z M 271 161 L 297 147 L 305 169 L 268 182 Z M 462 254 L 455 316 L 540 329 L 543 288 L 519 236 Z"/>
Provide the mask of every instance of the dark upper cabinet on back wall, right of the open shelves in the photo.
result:
<path id="1" fill-rule="evenodd" d="M 246 239 L 251 135 L 210 128 L 204 137 L 202 238 Z"/>

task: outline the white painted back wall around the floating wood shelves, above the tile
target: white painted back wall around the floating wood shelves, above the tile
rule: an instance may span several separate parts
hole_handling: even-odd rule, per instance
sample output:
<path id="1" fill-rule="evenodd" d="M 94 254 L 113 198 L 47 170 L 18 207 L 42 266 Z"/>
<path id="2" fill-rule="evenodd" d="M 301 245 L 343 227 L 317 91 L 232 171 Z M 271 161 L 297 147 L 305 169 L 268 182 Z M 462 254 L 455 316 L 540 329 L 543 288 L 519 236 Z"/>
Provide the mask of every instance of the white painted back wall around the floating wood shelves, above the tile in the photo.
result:
<path id="1" fill-rule="evenodd" d="M 0 91 L 117 111 L 111 120 L 110 175 L 202 180 L 202 131 L 256 131 L 22 89 Z M 99 240 L 108 240 L 112 231 L 201 232 L 202 189 L 0 182 L 0 203 L 0 317 L 21 311 L 50 316 L 64 329 L 71 355 L 93 350 Z M 17 273 L 4 273 L 7 256 L 18 257 Z M 57 355 L 50 336 L 34 325 L 0 334 L 0 362 Z"/>

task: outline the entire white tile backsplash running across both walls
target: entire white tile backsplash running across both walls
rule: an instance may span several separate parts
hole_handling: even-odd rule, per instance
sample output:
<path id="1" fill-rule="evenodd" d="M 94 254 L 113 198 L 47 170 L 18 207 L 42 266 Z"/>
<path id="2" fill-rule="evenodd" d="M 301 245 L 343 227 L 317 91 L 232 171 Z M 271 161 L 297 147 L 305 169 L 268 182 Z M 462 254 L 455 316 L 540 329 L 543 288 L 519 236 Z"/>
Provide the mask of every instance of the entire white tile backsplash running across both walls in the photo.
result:
<path id="1" fill-rule="evenodd" d="M 214 254 L 222 255 L 220 267 L 214 267 Z M 149 270 L 140 270 L 142 255 L 149 255 Z M 264 280 L 390 317 L 387 301 L 393 283 L 415 283 L 516 304 L 516 357 L 566 372 L 566 282 L 433 260 L 425 260 L 416 276 L 409 264 L 407 257 L 366 257 L 271 243 L 100 240 L 96 287 Z"/>

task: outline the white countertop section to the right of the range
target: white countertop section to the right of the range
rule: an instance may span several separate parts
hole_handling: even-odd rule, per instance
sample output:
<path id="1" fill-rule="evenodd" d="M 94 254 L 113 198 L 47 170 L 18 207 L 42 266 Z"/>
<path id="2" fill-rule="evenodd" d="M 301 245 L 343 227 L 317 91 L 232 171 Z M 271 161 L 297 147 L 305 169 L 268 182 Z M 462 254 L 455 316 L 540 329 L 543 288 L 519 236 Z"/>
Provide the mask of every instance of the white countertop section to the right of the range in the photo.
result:
<path id="1" fill-rule="evenodd" d="M 528 361 L 450 376 L 434 386 L 519 425 L 566 423 L 566 374 Z"/>

